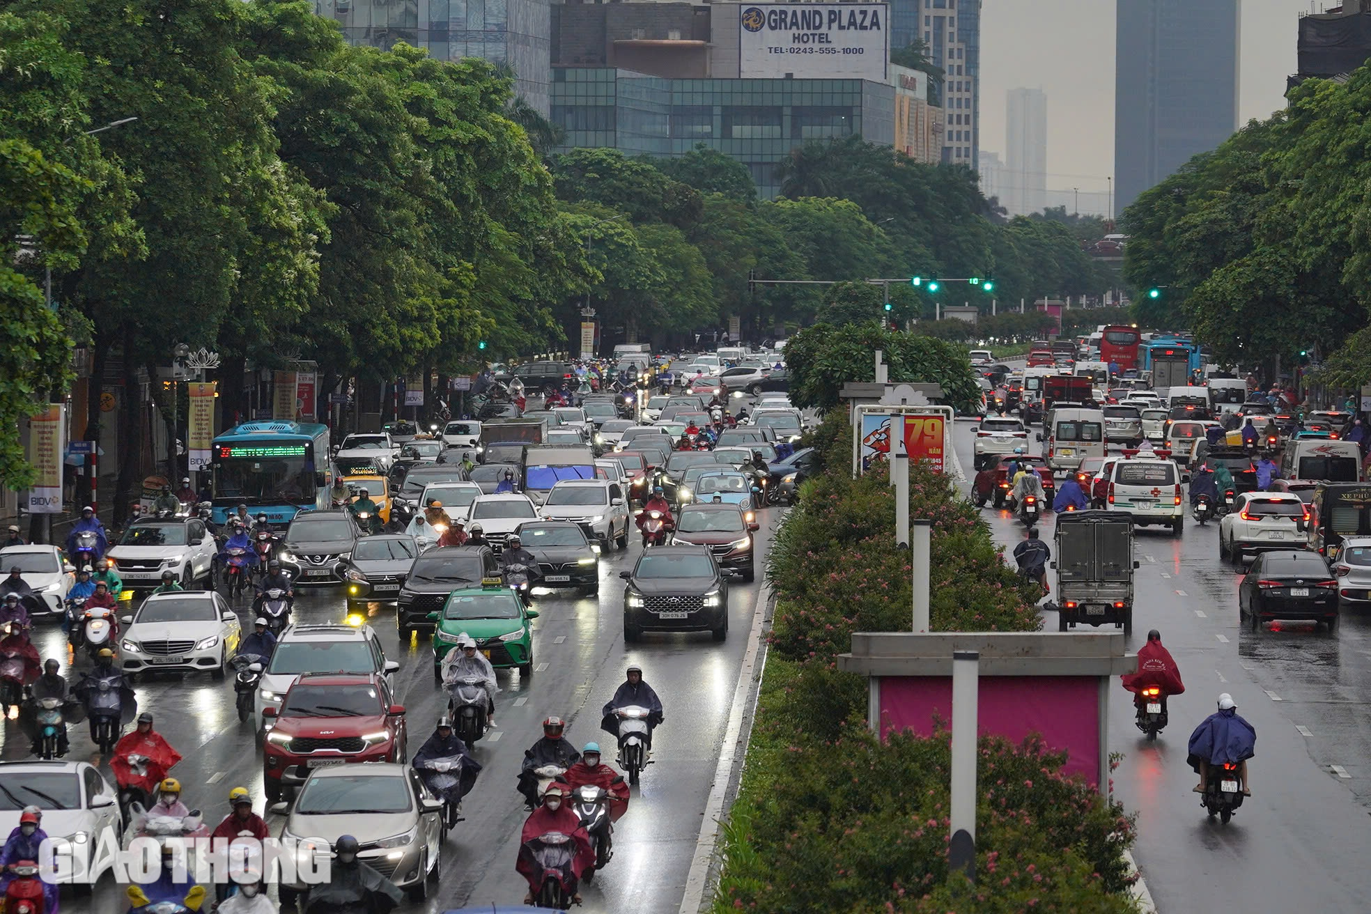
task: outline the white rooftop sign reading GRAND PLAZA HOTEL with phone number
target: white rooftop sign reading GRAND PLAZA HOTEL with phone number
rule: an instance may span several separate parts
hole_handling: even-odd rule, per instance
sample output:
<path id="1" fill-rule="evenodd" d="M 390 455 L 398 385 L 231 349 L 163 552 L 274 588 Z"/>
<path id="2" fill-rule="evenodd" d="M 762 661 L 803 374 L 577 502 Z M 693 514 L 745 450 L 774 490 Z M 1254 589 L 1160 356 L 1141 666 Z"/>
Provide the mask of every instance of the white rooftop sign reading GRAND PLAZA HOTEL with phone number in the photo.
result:
<path id="1" fill-rule="evenodd" d="M 738 75 L 884 82 L 888 12 L 884 3 L 739 4 Z"/>

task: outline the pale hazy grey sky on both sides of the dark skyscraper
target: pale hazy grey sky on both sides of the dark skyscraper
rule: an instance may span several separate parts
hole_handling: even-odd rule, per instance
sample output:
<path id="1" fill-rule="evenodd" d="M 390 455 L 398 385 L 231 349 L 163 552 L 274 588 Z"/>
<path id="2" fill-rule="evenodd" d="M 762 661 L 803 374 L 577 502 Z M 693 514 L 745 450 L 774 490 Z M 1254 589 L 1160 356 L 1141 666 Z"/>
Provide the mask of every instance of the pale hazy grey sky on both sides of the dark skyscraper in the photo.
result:
<path id="1" fill-rule="evenodd" d="M 1309 11 L 1309 0 L 1242 0 L 1241 123 L 1285 107 L 1301 11 Z M 1075 186 L 1082 211 L 1104 211 L 1106 178 L 1113 174 L 1113 51 L 1115 0 L 982 3 L 980 148 L 1005 148 L 1009 89 L 1042 89 L 1047 96 L 1049 204 L 1067 203 Z M 1087 197 L 1089 190 L 1098 197 Z M 1098 207 L 1089 206 L 1094 199 Z"/>

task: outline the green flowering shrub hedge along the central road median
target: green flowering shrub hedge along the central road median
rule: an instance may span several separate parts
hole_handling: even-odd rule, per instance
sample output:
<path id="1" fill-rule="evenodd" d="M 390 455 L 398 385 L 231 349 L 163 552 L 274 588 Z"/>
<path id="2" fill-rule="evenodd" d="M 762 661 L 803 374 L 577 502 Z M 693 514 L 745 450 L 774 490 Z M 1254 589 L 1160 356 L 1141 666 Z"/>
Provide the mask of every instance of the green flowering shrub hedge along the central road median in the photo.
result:
<path id="1" fill-rule="evenodd" d="M 1038 741 L 983 739 L 978 882 L 947 869 L 950 739 L 865 728 L 866 684 L 836 669 L 858 630 L 909 630 L 910 563 L 894 489 L 849 477 L 845 417 L 812 436 L 828 471 L 805 482 L 772 544 L 776 615 L 716 914 L 1134 910 L 1132 822 Z M 910 517 L 932 526 L 938 630 L 1036 630 L 1034 607 L 975 510 L 925 466 Z"/>

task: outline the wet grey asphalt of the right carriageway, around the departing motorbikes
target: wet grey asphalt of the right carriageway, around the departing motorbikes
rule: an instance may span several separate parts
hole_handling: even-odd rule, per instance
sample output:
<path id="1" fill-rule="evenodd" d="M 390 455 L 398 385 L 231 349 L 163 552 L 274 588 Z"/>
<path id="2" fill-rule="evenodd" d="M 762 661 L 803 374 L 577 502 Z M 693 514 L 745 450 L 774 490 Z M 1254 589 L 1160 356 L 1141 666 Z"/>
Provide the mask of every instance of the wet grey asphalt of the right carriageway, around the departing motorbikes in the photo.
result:
<path id="1" fill-rule="evenodd" d="M 971 471 L 971 422 L 956 451 Z M 1024 528 L 1008 511 L 982 510 L 1010 549 Z M 1039 523 L 1052 543 L 1054 515 Z M 1115 795 L 1138 814 L 1134 856 L 1163 914 L 1186 911 L 1364 911 L 1371 891 L 1371 615 L 1344 607 L 1328 633 L 1238 623 L 1241 574 L 1219 560 L 1217 521 L 1186 518 L 1182 537 L 1139 528 L 1128 648 L 1161 632 L 1186 684 L 1169 699 L 1169 725 L 1149 743 L 1134 725 L 1131 693 L 1111 689 L 1109 750 L 1121 752 Z M 1050 573 L 1049 573 L 1050 574 Z M 1056 630 L 1056 613 L 1045 611 Z M 1090 629 L 1075 629 L 1090 630 Z M 1116 628 L 1104 630 L 1119 630 Z M 1253 795 L 1228 825 L 1206 817 L 1186 765 L 1190 732 L 1220 692 L 1257 730 Z"/>

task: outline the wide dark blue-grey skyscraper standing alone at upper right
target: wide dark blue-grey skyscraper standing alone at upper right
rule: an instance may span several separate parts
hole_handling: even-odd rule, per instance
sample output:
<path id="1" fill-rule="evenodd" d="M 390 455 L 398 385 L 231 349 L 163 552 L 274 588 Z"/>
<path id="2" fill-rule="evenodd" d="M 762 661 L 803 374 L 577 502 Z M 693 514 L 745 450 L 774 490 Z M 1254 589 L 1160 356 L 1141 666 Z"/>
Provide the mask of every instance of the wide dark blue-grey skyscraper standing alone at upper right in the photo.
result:
<path id="1" fill-rule="evenodd" d="M 1238 121 L 1238 0 L 1117 0 L 1115 211 Z"/>

